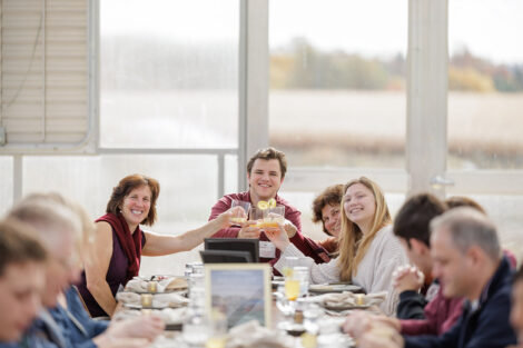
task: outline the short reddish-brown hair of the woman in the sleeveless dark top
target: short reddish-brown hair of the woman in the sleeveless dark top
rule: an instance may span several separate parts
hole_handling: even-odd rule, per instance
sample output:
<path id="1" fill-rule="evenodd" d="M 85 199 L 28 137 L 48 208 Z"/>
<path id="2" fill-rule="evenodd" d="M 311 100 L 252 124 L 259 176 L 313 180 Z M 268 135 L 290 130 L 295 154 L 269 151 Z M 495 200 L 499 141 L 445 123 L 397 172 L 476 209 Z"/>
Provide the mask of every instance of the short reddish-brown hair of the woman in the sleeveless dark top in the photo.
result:
<path id="1" fill-rule="evenodd" d="M 146 177 L 144 175 L 131 175 L 127 176 L 118 182 L 118 186 L 112 188 L 112 195 L 107 203 L 106 212 L 118 213 L 120 211 L 120 206 L 124 202 L 124 199 L 127 195 L 130 193 L 136 188 L 148 186 L 150 188 L 150 209 L 147 218 L 141 221 L 144 225 L 151 226 L 156 221 L 156 200 L 160 195 L 160 183 L 152 178 Z"/>

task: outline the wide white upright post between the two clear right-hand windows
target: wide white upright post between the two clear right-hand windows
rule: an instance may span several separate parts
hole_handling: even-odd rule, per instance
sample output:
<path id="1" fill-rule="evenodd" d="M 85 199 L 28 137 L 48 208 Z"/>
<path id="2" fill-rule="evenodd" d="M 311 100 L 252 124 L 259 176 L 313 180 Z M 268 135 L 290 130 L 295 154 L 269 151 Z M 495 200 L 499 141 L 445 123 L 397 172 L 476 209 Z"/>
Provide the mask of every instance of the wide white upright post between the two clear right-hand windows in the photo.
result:
<path id="1" fill-rule="evenodd" d="M 446 169 L 447 0 L 409 0 L 407 57 L 407 146 L 409 193 L 444 196 L 431 185 Z"/>

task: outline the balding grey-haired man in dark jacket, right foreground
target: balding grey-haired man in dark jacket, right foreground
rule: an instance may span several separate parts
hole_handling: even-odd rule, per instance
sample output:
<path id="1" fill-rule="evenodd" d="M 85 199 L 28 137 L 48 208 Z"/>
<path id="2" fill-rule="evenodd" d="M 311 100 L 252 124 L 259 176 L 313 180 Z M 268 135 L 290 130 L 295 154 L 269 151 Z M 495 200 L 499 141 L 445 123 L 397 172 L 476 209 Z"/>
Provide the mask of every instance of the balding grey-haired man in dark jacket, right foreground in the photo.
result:
<path id="1" fill-rule="evenodd" d="M 494 225 L 472 208 L 456 208 L 431 222 L 433 272 L 445 297 L 467 299 L 445 335 L 405 337 L 405 347 L 503 348 L 516 342 L 509 322 L 512 270 Z"/>

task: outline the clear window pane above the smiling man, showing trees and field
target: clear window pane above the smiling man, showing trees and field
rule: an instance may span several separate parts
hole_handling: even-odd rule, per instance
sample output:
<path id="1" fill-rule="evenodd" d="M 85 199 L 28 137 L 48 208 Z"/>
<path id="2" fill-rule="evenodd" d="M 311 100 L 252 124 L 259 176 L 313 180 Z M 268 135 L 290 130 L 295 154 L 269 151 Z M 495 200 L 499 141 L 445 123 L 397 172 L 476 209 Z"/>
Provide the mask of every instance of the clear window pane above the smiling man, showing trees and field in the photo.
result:
<path id="1" fill-rule="evenodd" d="M 403 169 L 407 0 L 269 9 L 270 145 L 292 166 Z"/>

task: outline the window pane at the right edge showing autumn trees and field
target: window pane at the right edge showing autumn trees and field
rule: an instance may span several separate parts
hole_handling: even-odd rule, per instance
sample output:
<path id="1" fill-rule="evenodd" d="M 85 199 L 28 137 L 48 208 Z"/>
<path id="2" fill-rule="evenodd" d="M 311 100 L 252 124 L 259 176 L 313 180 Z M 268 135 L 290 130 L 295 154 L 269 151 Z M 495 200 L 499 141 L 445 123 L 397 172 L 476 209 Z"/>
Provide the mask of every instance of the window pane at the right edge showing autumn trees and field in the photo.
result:
<path id="1" fill-rule="evenodd" d="M 523 2 L 448 1 L 448 168 L 523 169 Z"/>

